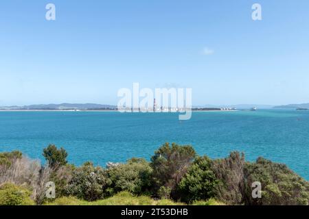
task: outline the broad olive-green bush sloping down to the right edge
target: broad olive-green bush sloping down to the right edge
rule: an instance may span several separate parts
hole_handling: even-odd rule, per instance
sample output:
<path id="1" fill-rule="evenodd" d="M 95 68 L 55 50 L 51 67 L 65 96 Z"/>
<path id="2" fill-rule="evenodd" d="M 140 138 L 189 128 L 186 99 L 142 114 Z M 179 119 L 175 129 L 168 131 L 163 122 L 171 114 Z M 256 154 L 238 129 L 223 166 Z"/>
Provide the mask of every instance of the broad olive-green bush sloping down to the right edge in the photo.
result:
<path id="1" fill-rule="evenodd" d="M 309 183 L 284 164 L 276 164 L 262 157 L 255 163 L 247 163 L 244 169 L 246 179 L 246 205 L 308 205 Z M 262 198 L 253 199 L 251 184 L 259 181 Z"/>

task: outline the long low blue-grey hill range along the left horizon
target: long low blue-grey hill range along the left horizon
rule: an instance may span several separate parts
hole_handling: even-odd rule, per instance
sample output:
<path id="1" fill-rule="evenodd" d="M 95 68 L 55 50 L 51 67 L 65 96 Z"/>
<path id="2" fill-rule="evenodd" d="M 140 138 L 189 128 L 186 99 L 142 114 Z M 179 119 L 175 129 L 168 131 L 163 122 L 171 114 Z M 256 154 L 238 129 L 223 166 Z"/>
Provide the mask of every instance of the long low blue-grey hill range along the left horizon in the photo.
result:
<path id="1" fill-rule="evenodd" d="M 115 105 L 102 105 L 96 103 L 61 103 L 61 104 L 39 104 L 24 106 L 0 107 L 0 110 L 99 110 L 115 109 Z"/>

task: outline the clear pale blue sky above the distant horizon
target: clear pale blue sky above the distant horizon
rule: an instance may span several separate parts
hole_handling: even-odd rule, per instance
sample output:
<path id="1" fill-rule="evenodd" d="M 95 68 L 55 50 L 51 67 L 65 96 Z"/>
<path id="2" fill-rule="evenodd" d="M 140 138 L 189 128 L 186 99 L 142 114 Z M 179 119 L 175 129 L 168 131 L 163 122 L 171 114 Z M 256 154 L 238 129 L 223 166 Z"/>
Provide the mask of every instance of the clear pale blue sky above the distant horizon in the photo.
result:
<path id="1" fill-rule="evenodd" d="M 47 3 L 56 21 L 47 21 Z M 253 3 L 262 21 L 253 21 Z M 192 88 L 194 105 L 309 102 L 308 0 L 3 0 L 0 105 L 117 104 Z"/>

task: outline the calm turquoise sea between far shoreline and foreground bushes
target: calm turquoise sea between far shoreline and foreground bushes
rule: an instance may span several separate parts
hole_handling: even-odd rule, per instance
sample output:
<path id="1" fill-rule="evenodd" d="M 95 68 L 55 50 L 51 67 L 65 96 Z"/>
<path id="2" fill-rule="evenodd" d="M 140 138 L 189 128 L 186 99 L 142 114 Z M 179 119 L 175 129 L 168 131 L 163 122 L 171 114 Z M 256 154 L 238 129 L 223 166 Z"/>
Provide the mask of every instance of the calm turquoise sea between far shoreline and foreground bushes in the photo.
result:
<path id="1" fill-rule="evenodd" d="M 309 112 L 194 112 L 186 121 L 171 113 L 0 112 L 0 151 L 32 158 L 43 159 L 52 143 L 68 151 L 71 163 L 104 166 L 149 158 L 164 142 L 192 144 L 212 158 L 230 151 L 243 151 L 251 161 L 263 156 L 309 179 Z"/>

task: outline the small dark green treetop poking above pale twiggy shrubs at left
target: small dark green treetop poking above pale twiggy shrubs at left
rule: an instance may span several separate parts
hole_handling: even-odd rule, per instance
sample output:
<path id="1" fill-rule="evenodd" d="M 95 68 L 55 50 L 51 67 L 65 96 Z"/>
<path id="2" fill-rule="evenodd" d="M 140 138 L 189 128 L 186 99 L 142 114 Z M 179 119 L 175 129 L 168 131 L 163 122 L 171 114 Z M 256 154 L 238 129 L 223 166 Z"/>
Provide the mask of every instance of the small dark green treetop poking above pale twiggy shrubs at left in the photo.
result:
<path id="1" fill-rule="evenodd" d="M 51 168 L 67 164 L 67 151 L 62 148 L 57 149 L 54 144 L 49 144 L 46 149 L 43 149 L 43 156 Z"/>

